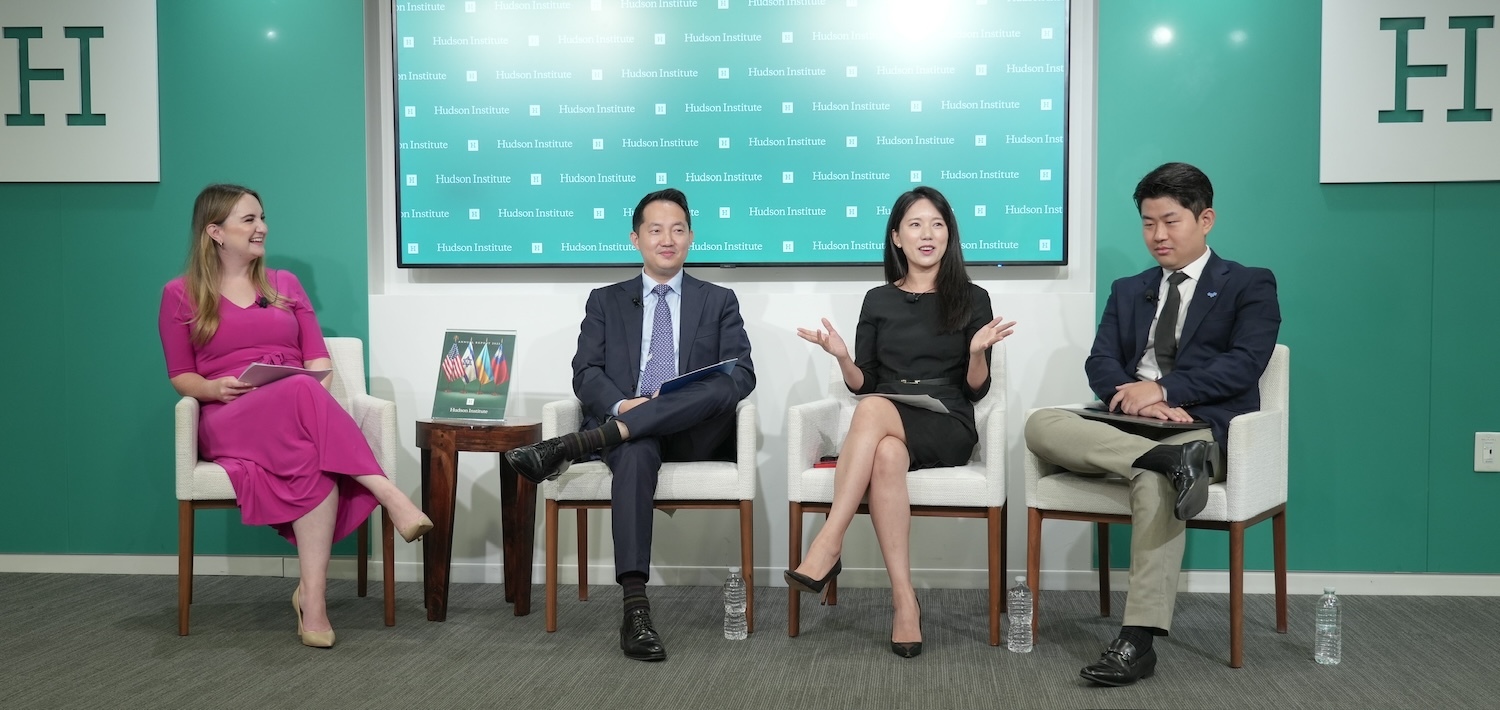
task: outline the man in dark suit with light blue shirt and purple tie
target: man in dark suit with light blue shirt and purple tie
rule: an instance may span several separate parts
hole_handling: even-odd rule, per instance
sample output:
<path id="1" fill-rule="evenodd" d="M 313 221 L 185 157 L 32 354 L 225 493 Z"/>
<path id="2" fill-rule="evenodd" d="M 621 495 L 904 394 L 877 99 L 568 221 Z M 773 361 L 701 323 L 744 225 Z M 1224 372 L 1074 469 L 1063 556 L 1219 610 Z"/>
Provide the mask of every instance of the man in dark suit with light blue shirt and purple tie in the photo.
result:
<path id="1" fill-rule="evenodd" d="M 735 293 L 682 272 L 693 245 L 687 197 L 676 189 L 644 197 L 630 242 L 640 251 L 640 276 L 596 288 L 584 308 L 573 356 L 582 431 L 513 449 L 506 459 L 540 483 L 603 449 L 626 600 L 620 648 L 636 660 L 664 660 L 645 593 L 657 474 L 663 461 L 734 459 L 735 407 L 754 389 L 754 366 Z M 658 393 L 666 378 L 732 357 L 729 372 Z"/>

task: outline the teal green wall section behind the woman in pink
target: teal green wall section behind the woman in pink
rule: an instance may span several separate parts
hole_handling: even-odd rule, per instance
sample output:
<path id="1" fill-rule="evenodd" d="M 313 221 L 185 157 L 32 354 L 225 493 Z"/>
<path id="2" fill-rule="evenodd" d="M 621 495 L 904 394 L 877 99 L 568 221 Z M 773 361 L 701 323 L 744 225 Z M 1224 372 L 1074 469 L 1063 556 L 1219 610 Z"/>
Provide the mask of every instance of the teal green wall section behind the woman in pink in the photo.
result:
<path id="1" fill-rule="evenodd" d="M 0 552 L 177 549 L 156 309 L 204 185 L 260 191 L 270 266 L 302 278 L 327 335 L 368 336 L 363 18 L 360 0 L 160 0 L 162 182 L 0 185 Z M 212 510 L 198 551 L 291 546 Z"/>

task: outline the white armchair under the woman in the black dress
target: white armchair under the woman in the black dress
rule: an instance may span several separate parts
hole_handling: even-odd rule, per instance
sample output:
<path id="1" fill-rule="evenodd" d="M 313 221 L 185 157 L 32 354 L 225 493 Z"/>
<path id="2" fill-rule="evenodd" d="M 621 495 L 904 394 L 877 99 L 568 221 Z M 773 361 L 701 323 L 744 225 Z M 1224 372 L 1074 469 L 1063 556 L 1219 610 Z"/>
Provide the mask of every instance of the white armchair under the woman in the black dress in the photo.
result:
<path id="1" fill-rule="evenodd" d="M 980 443 L 969 464 L 950 468 L 924 468 L 908 474 L 912 515 L 936 518 L 984 518 L 988 521 L 990 564 L 990 645 L 1000 644 L 1000 575 L 1005 572 L 1005 348 L 996 345 L 990 357 L 990 392 L 974 408 Z M 798 404 L 788 410 L 786 494 L 790 503 L 789 564 L 802 561 L 802 513 L 828 515 L 834 500 L 834 470 L 814 468 L 820 456 L 838 453 L 849 434 L 856 399 L 844 386 L 834 363 L 828 398 Z M 868 513 L 866 504 L 861 513 Z M 830 582 L 832 585 L 834 582 Z M 828 603 L 837 603 L 837 587 L 828 590 Z M 800 624 L 796 590 L 788 591 L 786 635 L 795 636 Z"/>

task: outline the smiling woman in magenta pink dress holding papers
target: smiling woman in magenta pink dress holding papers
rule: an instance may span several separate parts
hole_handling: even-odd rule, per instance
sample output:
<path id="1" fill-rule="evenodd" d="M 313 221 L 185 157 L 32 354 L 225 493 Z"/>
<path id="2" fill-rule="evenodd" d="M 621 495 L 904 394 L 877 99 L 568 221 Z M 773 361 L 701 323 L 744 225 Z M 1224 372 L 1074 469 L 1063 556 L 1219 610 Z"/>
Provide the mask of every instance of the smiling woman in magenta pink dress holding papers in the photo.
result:
<path id="1" fill-rule="evenodd" d="M 272 525 L 297 545 L 297 633 L 327 648 L 333 542 L 376 504 L 406 542 L 432 521 L 381 471 L 358 425 L 328 393 L 330 378 L 292 375 L 264 387 L 237 378 L 255 362 L 333 365 L 297 276 L 266 269 L 266 231 L 258 194 L 204 188 L 194 204 L 188 270 L 162 290 L 158 326 L 172 387 L 202 402 L 200 455 L 230 473 L 246 525 Z"/>

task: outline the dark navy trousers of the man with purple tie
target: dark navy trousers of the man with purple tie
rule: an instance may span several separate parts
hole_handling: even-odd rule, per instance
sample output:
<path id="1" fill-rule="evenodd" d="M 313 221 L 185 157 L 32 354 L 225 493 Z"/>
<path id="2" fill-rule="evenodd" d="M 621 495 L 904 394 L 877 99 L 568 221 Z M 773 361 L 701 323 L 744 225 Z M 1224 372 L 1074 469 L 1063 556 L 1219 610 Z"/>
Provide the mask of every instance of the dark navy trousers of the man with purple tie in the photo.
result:
<path id="1" fill-rule="evenodd" d="M 710 380 L 726 378 L 714 375 Z M 702 380 L 621 414 L 630 440 L 604 450 L 615 533 L 615 578 L 651 572 L 651 515 L 663 461 L 724 456 L 735 434 L 735 390 Z"/>

